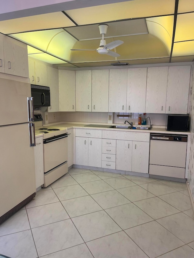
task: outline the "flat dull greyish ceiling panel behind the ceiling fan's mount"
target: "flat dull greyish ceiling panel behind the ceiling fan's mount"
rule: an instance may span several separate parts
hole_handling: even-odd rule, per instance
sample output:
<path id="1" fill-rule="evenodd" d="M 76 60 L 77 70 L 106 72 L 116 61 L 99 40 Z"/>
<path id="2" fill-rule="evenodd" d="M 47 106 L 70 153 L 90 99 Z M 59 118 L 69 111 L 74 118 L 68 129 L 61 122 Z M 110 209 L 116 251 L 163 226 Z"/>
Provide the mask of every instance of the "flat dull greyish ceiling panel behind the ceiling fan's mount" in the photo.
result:
<path id="1" fill-rule="evenodd" d="M 107 25 L 109 27 L 105 38 L 148 33 L 145 19 L 109 22 Z M 98 24 L 65 28 L 65 30 L 78 40 L 102 38 Z"/>

